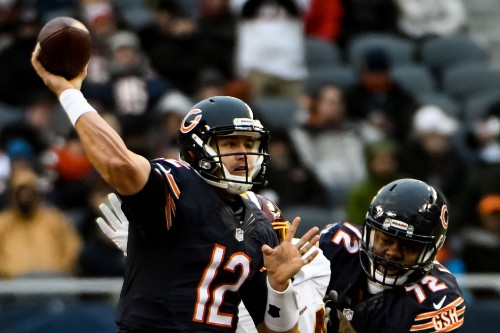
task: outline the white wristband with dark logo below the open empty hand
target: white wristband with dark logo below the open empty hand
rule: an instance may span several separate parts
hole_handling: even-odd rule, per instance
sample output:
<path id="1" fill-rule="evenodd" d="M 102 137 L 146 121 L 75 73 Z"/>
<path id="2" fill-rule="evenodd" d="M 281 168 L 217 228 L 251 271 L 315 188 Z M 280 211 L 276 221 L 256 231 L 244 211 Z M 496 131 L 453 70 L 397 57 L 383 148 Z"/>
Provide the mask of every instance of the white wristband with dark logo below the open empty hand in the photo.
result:
<path id="1" fill-rule="evenodd" d="M 267 280 L 267 309 L 264 323 L 273 331 L 291 330 L 299 321 L 299 306 L 292 282 L 285 291 L 276 291 Z"/>

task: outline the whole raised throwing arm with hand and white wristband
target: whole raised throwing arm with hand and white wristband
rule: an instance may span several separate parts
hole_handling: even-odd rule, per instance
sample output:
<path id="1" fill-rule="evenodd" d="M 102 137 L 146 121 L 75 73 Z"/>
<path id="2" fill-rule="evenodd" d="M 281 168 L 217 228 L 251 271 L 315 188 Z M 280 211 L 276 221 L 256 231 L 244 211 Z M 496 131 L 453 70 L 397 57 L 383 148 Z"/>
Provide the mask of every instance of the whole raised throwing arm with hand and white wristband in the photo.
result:
<path id="1" fill-rule="evenodd" d="M 102 177 L 121 194 L 137 193 L 146 183 L 149 161 L 128 150 L 122 138 L 99 116 L 80 92 L 87 68 L 67 80 L 48 72 L 33 52 L 31 63 L 45 85 L 59 98 L 76 128 L 87 156 Z"/>

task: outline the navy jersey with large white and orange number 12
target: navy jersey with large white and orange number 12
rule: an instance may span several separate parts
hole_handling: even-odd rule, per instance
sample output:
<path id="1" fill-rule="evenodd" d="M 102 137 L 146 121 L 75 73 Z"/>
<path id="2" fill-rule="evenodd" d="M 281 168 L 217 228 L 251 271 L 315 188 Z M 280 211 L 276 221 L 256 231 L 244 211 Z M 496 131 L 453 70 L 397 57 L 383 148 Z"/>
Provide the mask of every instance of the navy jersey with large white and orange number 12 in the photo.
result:
<path id="1" fill-rule="evenodd" d="M 278 245 L 266 215 L 241 196 L 238 218 L 187 164 L 154 160 L 144 188 L 122 196 L 130 221 L 117 312 L 122 332 L 233 332 L 243 300 L 256 323 L 267 300 L 261 247 Z"/>

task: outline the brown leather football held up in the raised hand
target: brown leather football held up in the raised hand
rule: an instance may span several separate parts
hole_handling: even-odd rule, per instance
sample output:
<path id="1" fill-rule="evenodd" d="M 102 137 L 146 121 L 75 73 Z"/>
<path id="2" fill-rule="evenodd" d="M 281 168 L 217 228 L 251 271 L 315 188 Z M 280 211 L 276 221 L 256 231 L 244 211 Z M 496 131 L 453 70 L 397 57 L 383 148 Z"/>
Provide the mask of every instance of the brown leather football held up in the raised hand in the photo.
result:
<path id="1" fill-rule="evenodd" d="M 35 52 L 45 69 L 71 80 L 90 60 L 92 38 L 80 21 L 56 17 L 40 30 Z"/>

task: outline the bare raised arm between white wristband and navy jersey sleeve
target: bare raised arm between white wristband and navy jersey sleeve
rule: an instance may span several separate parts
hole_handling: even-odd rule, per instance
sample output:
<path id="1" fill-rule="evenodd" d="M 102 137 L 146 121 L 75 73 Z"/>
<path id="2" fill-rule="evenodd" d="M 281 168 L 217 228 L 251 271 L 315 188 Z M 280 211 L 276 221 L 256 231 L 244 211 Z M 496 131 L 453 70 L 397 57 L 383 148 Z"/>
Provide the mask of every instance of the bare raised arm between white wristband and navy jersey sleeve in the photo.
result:
<path id="1" fill-rule="evenodd" d="M 120 194 L 137 193 L 146 183 L 150 164 L 128 150 L 125 143 L 96 112 L 83 114 L 75 125 L 90 161 Z"/>

